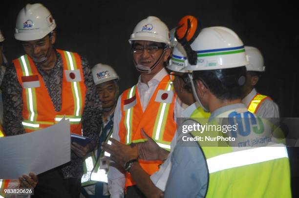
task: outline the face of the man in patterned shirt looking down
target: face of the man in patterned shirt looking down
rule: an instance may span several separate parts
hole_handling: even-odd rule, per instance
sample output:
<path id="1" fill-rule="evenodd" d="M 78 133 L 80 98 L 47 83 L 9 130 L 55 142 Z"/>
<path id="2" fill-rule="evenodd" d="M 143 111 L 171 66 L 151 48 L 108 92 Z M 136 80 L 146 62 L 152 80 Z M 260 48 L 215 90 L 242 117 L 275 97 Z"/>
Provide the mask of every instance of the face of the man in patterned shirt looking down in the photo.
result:
<path id="1" fill-rule="evenodd" d="M 39 39 L 39 40 L 22 41 L 22 45 L 25 53 L 31 59 L 42 59 L 46 57 L 48 49 L 51 46 L 51 44 L 54 43 L 54 41 L 52 38 L 52 43 L 51 43 L 50 38 L 47 35 L 43 39 Z"/>

